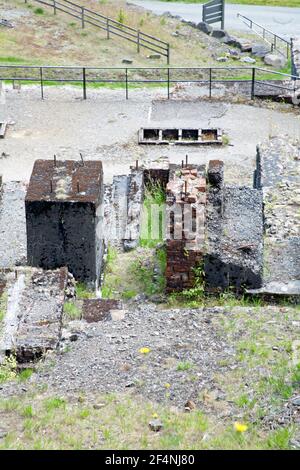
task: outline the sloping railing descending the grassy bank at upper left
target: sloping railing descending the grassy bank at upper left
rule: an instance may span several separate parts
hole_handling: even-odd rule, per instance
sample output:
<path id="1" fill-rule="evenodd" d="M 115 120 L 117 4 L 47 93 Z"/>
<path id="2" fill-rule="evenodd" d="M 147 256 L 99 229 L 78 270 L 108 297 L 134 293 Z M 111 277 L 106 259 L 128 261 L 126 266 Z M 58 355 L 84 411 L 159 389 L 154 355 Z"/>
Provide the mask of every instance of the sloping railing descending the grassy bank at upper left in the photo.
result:
<path id="1" fill-rule="evenodd" d="M 28 0 L 25 0 L 27 3 Z M 81 27 L 85 28 L 86 25 L 95 26 L 106 32 L 107 39 L 110 39 L 111 35 L 118 36 L 126 41 L 129 41 L 136 45 L 137 52 L 140 52 L 141 48 L 148 49 L 156 54 L 160 54 L 166 57 L 167 63 L 170 63 L 170 45 L 155 36 L 146 34 L 139 29 L 131 28 L 126 24 L 120 23 L 108 16 L 101 15 L 89 8 L 86 8 L 76 3 L 70 2 L 69 0 L 33 0 L 41 3 L 42 5 L 53 8 L 53 13 L 56 15 L 57 11 L 66 13 L 72 16 L 81 23 Z"/>

